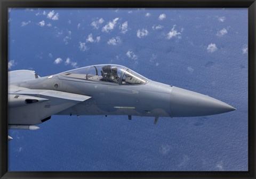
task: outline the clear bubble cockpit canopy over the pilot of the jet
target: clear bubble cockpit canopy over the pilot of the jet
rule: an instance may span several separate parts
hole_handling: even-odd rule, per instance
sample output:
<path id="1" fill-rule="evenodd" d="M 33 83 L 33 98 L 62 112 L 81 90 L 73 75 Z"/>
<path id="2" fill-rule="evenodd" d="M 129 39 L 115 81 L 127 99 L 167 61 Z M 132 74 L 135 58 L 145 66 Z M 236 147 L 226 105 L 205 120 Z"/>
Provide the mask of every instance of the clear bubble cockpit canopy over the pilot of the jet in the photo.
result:
<path id="1" fill-rule="evenodd" d="M 147 78 L 137 74 L 137 72 L 117 64 L 98 64 L 66 71 L 60 75 L 68 78 L 122 85 L 141 85 L 148 82 Z"/>

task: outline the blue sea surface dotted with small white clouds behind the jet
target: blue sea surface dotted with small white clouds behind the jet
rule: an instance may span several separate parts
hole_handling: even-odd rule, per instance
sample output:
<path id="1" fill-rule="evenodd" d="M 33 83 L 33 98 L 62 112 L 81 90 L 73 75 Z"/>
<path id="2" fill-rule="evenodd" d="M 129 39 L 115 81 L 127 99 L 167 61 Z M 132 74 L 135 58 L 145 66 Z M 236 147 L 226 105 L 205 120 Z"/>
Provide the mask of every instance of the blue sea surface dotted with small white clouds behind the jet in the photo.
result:
<path id="1" fill-rule="evenodd" d="M 247 171 L 247 9 L 10 9 L 9 70 L 115 63 L 236 111 L 187 118 L 52 116 L 9 129 L 9 171 Z"/>

